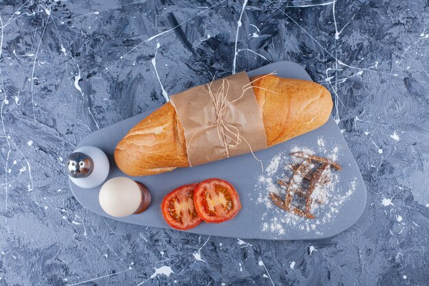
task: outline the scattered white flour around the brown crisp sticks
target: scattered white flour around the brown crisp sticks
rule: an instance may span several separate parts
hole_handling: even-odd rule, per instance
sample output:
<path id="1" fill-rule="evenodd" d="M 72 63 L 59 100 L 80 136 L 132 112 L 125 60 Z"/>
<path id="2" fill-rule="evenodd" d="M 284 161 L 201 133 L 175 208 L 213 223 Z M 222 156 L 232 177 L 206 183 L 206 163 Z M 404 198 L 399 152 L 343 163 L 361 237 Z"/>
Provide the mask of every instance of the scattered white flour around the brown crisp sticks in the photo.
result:
<path id="1" fill-rule="evenodd" d="M 332 222 L 341 210 L 342 204 L 350 198 L 350 195 L 356 189 L 356 178 L 348 184 L 348 189 L 341 189 L 338 187 L 338 182 L 342 171 L 336 171 L 331 168 L 326 169 L 322 176 L 327 182 L 318 184 L 312 193 L 311 213 L 315 215 L 315 219 L 299 217 L 278 208 L 271 202 L 269 193 L 275 193 L 280 198 L 285 197 L 286 188 L 280 187 L 278 180 L 289 182 L 289 179 L 293 176 L 292 165 L 303 162 L 302 158 L 290 156 L 292 152 L 305 152 L 306 154 L 322 156 L 337 161 L 340 151 L 339 146 L 328 144 L 322 137 L 319 137 L 317 139 L 317 150 L 310 150 L 305 146 L 296 146 L 292 150 L 282 152 L 271 159 L 256 184 L 256 190 L 259 192 L 257 202 L 264 204 L 267 208 L 267 211 L 262 215 L 262 231 L 273 236 L 284 235 L 286 231 L 291 229 L 323 235 L 321 226 Z M 297 176 L 293 177 L 295 184 L 299 184 L 302 178 L 295 177 Z M 293 184 L 293 187 L 295 184 Z"/>

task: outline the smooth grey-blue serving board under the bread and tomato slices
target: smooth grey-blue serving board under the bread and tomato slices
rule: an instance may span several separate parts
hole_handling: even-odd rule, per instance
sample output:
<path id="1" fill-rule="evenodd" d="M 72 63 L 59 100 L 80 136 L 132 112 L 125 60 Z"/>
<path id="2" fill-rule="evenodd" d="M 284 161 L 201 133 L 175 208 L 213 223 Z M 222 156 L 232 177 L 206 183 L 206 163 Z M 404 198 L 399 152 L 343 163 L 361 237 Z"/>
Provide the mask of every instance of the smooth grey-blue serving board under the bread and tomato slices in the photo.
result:
<path id="1" fill-rule="evenodd" d="M 272 71 L 276 71 L 278 76 L 282 78 L 311 80 L 308 73 L 306 73 L 302 67 L 294 62 L 286 61 L 268 64 L 265 67 L 249 71 L 248 74 L 249 76 L 255 76 Z M 130 128 L 153 111 L 154 110 L 143 112 L 130 119 L 97 130 L 82 139 L 77 147 L 93 145 L 106 152 L 110 160 L 110 174 L 108 179 L 116 176 L 127 176 L 114 164 L 114 148 Z M 238 191 L 242 203 L 240 213 L 229 222 L 224 222 L 222 224 L 206 224 L 203 222 L 196 228 L 186 231 L 201 235 L 239 237 L 242 239 L 322 239 L 332 237 L 352 226 L 359 219 L 360 215 L 362 215 L 367 200 L 367 191 L 358 166 L 334 119 L 330 117 L 329 121 L 317 130 L 291 139 L 285 143 L 275 145 L 267 150 L 256 152 L 256 156 L 267 165 L 276 154 L 287 152 L 296 145 L 303 145 L 310 148 L 314 147 L 314 149 L 317 149 L 317 139 L 319 137 L 329 139 L 340 146 L 341 152 L 338 156 L 338 162 L 343 167 L 343 170 L 339 173 L 340 180 L 337 187 L 345 192 L 349 189 L 350 182 L 352 182 L 352 180 L 356 181 L 356 190 L 352 193 L 350 199 L 345 201 L 341 208 L 339 208 L 339 213 L 336 214 L 334 219 L 332 219 L 329 224 L 318 226 L 317 231 L 319 235 L 315 230 L 306 231 L 295 228 L 289 229 L 287 227 L 282 235 L 271 235 L 262 231 L 262 214 L 267 213 L 267 207 L 265 204 L 257 202 L 260 196 L 260 190 L 257 190 L 255 186 L 261 171 L 260 164 L 254 159 L 252 154 L 237 156 L 229 158 L 228 160 L 220 160 L 192 168 L 175 169 L 174 171 L 154 176 L 130 177 L 147 185 L 151 191 L 152 202 L 151 206 L 149 206 L 144 213 L 131 215 L 129 217 L 116 218 L 110 217 L 104 213 L 98 202 L 99 188 L 101 186 L 94 189 L 82 189 L 72 182 L 70 182 L 70 186 L 75 198 L 90 211 L 98 213 L 99 215 L 117 219 L 121 222 L 128 222 L 130 224 L 170 228 L 170 226 L 164 222 L 160 209 L 160 204 L 164 195 L 167 195 L 167 193 L 183 184 L 199 182 L 207 178 L 222 178 L 231 182 Z M 266 219 L 269 219 L 269 217 L 266 217 Z M 320 233 L 322 233 L 322 235 L 320 235 Z"/>

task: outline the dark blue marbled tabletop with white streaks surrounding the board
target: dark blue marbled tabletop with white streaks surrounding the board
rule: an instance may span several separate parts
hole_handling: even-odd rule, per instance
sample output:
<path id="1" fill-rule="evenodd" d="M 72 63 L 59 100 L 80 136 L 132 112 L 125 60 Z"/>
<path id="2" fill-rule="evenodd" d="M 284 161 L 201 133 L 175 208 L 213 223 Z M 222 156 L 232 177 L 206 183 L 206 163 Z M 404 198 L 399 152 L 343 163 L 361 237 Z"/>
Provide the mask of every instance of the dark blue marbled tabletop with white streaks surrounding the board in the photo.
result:
<path id="1" fill-rule="evenodd" d="M 428 1 L 1 1 L 0 19 L 0 285 L 429 285 Z M 86 134 L 279 60 L 332 93 L 368 190 L 349 230 L 199 237 L 71 195 Z"/>

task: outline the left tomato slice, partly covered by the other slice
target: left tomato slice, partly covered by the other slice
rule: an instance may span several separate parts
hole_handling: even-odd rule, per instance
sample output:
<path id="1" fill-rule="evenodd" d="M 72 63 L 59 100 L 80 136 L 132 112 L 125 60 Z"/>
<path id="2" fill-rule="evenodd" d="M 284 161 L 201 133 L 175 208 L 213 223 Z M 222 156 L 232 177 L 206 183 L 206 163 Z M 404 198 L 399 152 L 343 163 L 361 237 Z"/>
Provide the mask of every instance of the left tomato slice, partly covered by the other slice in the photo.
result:
<path id="1" fill-rule="evenodd" d="M 171 227 L 179 230 L 194 228 L 202 222 L 194 206 L 194 190 L 198 184 L 187 184 L 165 196 L 162 215 Z"/>

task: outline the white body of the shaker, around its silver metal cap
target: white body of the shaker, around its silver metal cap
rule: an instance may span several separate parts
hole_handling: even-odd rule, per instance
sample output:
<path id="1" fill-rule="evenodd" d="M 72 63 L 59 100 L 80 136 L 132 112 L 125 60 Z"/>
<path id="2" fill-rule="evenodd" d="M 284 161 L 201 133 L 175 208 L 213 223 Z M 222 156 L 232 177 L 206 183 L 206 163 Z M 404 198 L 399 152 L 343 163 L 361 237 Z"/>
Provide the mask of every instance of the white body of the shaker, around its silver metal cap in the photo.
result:
<path id="1" fill-rule="evenodd" d="M 90 156 L 94 162 L 94 169 L 86 178 L 72 178 L 69 176 L 70 180 L 77 184 L 77 186 L 85 189 L 94 188 L 102 184 L 104 180 L 106 180 L 110 169 L 109 159 L 106 154 L 99 148 L 93 146 L 82 146 L 77 148 L 74 152 L 81 152 Z"/>

